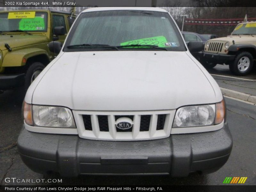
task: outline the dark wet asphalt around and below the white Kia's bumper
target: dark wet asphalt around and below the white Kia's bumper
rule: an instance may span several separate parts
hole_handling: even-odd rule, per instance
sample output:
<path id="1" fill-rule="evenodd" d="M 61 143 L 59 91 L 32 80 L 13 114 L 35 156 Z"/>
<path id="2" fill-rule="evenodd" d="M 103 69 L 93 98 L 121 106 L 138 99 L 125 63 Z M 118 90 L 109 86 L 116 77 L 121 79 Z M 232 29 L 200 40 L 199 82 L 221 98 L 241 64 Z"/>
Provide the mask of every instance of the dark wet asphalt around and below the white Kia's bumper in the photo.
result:
<path id="1" fill-rule="evenodd" d="M 16 141 L 22 127 L 23 95 L 17 91 L 0 94 L 0 182 L 1 185 L 224 185 L 226 177 L 248 177 L 243 185 L 256 185 L 256 106 L 226 98 L 227 121 L 233 137 L 228 162 L 217 172 L 186 178 L 169 176 L 79 176 L 61 178 L 57 174 L 42 175 L 31 171 L 21 161 Z M 62 179 L 61 183 L 18 183 L 5 178 Z M 7 182 L 5 182 L 7 181 Z M 227 184 L 226 184 L 227 185 Z M 230 185 L 230 184 L 229 184 Z"/>

